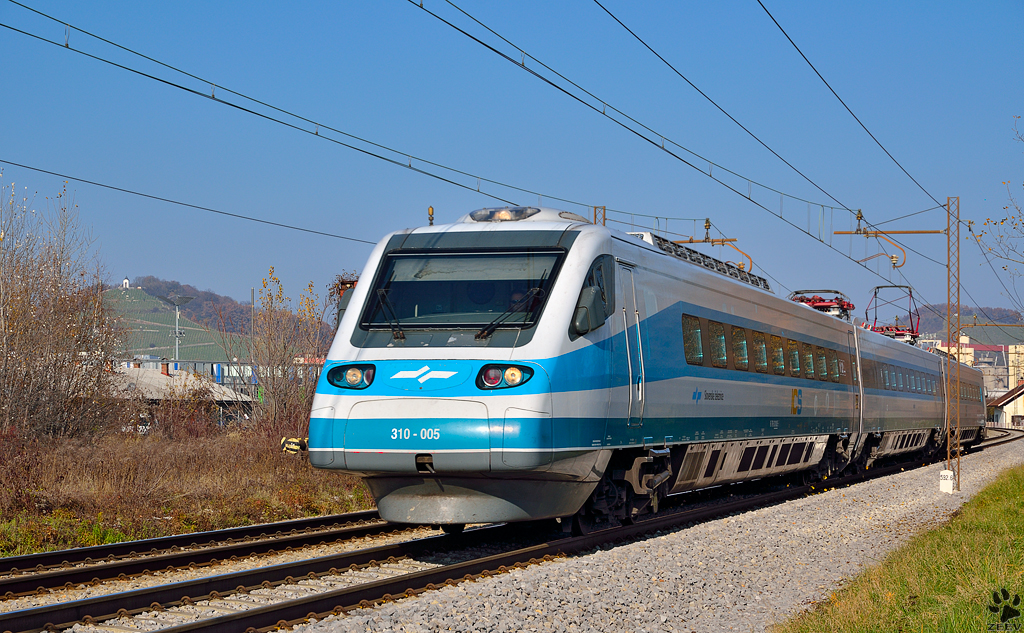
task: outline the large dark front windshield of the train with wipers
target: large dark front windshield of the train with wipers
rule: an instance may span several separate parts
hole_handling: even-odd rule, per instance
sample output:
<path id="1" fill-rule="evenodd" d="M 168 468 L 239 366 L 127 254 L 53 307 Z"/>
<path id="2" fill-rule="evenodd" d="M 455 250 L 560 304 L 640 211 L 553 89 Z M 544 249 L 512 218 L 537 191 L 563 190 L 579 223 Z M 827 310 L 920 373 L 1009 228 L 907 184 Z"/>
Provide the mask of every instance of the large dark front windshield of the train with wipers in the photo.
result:
<path id="1" fill-rule="evenodd" d="M 530 327 L 547 301 L 563 255 L 561 249 L 392 252 L 381 264 L 361 325 Z"/>

